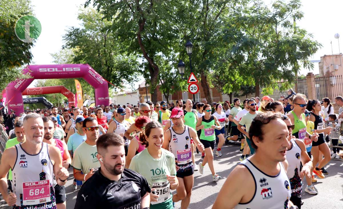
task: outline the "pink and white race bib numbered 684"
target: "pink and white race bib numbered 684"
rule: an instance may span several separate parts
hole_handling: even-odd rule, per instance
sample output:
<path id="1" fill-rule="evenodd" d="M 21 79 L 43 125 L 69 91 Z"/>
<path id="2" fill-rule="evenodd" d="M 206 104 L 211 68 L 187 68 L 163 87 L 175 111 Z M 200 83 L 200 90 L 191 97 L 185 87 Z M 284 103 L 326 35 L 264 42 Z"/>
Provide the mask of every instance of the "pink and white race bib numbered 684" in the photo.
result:
<path id="1" fill-rule="evenodd" d="M 23 182 L 23 205 L 37 205 L 50 201 L 49 180 Z"/>

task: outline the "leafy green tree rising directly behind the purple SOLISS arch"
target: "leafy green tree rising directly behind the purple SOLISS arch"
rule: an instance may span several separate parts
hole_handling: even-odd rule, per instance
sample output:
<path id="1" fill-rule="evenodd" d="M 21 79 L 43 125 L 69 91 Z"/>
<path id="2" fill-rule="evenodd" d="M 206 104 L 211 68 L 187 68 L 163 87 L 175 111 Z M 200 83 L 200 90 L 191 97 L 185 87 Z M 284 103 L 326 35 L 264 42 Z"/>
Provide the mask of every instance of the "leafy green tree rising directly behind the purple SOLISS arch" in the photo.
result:
<path id="1" fill-rule="evenodd" d="M 73 63 L 88 63 L 113 84 L 109 88 L 133 85 L 141 66 L 137 56 L 120 51 L 122 43 L 111 33 L 112 22 L 92 8 L 81 10 L 78 19 L 81 27 L 71 27 L 63 36 L 63 48 L 74 49 Z"/>

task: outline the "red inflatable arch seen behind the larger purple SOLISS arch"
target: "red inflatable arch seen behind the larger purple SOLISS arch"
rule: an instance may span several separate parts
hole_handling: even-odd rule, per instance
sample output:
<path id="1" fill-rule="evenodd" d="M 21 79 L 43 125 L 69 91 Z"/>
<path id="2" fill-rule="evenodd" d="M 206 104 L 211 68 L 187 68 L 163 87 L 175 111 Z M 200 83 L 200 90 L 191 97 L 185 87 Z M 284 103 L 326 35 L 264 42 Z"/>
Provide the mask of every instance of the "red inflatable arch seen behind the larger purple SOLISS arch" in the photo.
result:
<path id="1" fill-rule="evenodd" d="M 45 86 L 45 87 L 34 87 L 27 88 L 23 91 L 22 95 L 41 95 L 41 94 L 56 94 L 61 93 L 63 96 L 68 98 L 68 107 L 75 106 L 75 95 L 69 89 L 64 86 Z"/>

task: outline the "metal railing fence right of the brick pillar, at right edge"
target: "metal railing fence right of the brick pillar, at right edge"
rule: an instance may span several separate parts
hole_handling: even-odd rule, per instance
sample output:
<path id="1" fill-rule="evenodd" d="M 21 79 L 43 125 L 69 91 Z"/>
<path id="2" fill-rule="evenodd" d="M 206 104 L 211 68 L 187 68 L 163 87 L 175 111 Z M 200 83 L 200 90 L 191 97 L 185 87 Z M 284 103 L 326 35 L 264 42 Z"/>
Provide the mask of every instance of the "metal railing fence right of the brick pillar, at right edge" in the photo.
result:
<path id="1" fill-rule="evenodd" d="M 331 101 L 343 95 L 343 76 L 324 76 L 315 78 L 316 99 L 328 97 Z"/>

